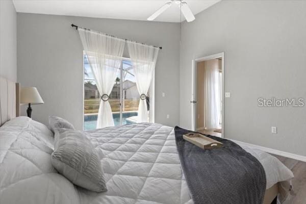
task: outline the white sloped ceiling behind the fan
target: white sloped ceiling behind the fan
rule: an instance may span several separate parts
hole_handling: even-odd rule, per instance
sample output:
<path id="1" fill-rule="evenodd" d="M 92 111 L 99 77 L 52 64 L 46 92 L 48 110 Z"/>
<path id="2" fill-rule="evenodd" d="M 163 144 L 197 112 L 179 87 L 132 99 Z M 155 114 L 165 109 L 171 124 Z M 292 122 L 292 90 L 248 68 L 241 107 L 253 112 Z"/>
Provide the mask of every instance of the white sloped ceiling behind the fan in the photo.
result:
<path id="1" fill-rule="evenodd" d="M 170 1 L 170 0 L 169 0 Z M 146 20 L 168 0 L 13 0 L 16 11 L 67 16 Z M 197 14 L 221 0 L 184 0 L 193 14 Z M 181 22 L 185 18 L 177 5 L 154 21 Z"/>

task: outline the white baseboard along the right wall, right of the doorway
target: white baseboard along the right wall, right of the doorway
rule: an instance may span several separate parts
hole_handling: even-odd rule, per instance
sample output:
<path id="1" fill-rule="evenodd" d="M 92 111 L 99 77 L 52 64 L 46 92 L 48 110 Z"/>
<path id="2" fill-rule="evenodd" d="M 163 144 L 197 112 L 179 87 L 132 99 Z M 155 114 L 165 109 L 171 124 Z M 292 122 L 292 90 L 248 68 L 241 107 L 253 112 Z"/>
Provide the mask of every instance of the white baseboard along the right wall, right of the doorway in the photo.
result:
<path id="1" fill-rule="evenodd" d="M 292 153 L 289 153 L 289 152 L 286 152 L 286 151 L 271 149 L 271 148 L 268 148 L 268 147 L 249 144 L 249 143 L 246 143 L 246 142 L 240 142 L 240 141 L 237 141 L 237 140 L 232 140 L 232 141 L 236 142 L 239 145 L 245 145 L 245 146 L 249 146 L 249 147 L 254 148 L 254 149 L 260 149 L 262 151 L 265 151 L 265 152 L 268 152 L 268 153 L 271 153 L 271 154 L 274 154 L 274 155 L 279 155 L 279 156 L 299 160 L 299 161 L 302 161 L 302 162 L 306 162 L 306 157 L 305 156 L 295 155 L 295 154 L 292 154 Z"/>

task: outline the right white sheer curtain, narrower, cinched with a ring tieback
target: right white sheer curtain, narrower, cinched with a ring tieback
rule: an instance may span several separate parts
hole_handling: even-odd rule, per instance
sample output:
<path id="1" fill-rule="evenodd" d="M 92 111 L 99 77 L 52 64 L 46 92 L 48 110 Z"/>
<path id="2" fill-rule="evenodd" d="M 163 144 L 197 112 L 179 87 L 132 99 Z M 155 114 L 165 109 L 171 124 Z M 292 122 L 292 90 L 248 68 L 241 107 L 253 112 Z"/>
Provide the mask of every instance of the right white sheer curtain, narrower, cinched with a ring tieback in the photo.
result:
<path id="1" fill-rule="evenodd" d="M 159 48 L 137 42 L 126 41 L 134 67 L 136 85 L 139 92 L 137 122 L 147 122 L 148 112 L 144 95 L 147 95 L 154 73 Z"/>

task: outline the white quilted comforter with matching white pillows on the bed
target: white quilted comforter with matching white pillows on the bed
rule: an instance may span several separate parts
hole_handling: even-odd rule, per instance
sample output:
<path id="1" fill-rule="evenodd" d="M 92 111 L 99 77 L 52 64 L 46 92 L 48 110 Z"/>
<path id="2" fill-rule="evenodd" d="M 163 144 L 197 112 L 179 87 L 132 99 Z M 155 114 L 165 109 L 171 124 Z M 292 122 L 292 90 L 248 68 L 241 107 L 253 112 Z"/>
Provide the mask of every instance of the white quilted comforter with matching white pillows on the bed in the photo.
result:
<path id="1" fill-rule="evenodd" d="M 75 187 L 58 174 L 50 162 L 52 133 L 41 123 L 18 117 L 0 127 L 0 203 L 193 203 L 172 127 L 141 123 L 86 132 L 103 151 L 107 192 Z M 275 161 L 265 156 L 262 162 L 267 175 L 278 172 L 267 178 L 269 185 L 293 176 Z"/>

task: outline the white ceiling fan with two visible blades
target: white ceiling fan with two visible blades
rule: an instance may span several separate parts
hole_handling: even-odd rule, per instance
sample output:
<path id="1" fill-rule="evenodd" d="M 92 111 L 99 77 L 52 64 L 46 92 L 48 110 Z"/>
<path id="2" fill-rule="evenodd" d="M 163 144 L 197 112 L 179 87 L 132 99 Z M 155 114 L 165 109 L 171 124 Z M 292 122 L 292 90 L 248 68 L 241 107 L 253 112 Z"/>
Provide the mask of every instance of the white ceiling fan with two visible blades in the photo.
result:
<path id="1" fill-rule="evenodd" d="M 179 6 L 187 22 L 191 22 L 195 19 L 194 15 L 192 14 L 186 2 L 182 2 L 181 0 L 171 0 L 171 2 L 167 2 L 164 6 L 162 6 L 159 10 L 157 10 L 154 14 L 148 17 L 147 20 L 154 20 L 159 15 L 161 15 L 164 11 L 166 11 L 173 3 Z"/>

